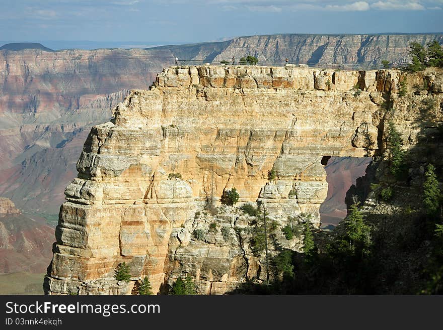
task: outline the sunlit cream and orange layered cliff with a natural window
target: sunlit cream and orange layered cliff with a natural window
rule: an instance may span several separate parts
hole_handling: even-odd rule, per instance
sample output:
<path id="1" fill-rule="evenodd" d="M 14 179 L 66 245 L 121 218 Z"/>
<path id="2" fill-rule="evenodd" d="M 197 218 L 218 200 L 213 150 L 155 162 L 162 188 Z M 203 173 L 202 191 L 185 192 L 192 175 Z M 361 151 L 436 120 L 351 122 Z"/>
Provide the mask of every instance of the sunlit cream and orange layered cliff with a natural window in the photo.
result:
<path id="1" fill-rule="evenodd" d="M 45 291 L 129 293 L 147 275 L 157 292 L 189 274 L 214 294 L 266 278 L 263 254 L 248 245 L 251 218 L 220 206 L 223 192 L 260 201 L 279 228 L 300 216 L 319 225 L 329 156 L 383 154 L 388 119 L 414 141 L 412 105 L 431 98 L 441 117 L 442 79 L 441 70 L 165 69 L 91 130 L 65 189 Z M 300 248 L 300 238 L 274 238 Z M 127 285 L 113 277 L 123 261 Z"/>

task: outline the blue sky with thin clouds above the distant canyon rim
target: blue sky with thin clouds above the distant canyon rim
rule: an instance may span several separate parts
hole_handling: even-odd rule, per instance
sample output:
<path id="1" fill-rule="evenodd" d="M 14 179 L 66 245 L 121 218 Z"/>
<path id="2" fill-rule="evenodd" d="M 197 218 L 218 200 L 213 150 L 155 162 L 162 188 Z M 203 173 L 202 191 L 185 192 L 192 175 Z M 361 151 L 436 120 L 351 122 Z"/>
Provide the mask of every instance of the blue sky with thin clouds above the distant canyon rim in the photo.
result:
<path id="1" fill-rule="evenodd" d="M 277 33 L 443 32 L 443 0 L 0 0 L 0 40 L 124 46 Z"/>

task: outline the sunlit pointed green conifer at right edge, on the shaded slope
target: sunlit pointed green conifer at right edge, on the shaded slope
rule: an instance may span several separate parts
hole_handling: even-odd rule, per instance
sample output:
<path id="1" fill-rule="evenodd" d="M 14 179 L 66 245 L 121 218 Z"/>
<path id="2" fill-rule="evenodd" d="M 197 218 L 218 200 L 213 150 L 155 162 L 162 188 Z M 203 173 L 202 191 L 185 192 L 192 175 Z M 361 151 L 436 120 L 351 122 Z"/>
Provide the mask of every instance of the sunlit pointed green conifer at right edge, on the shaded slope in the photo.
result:
<path id="1" fill-rule="evenodd" d="M 435 217 L 440 211 L 441 191 L 432 164 L 427 166 L 423 183 L 423 207 L 428 216 Z"/>

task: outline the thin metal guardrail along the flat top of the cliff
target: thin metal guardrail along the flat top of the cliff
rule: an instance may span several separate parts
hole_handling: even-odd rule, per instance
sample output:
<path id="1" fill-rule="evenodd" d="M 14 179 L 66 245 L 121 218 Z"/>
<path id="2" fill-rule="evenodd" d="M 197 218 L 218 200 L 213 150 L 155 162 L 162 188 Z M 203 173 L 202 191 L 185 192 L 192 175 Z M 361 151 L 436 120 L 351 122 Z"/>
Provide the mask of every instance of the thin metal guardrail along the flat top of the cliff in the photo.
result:
<path id="1" fill-rule="evenodd" d="M 227 63 L 228 62 L 228 63 Z M 281 66 L 284 67 L 286 64 L 294 65 L 294 66 L 308 66 L 310 68 L 317 68 L 317 69 L 335 69 L 335 70 L 378 70 L 378 69 L 384 69 L 383 65 L 381 64 L 345 64 L 345 63 L 310 63 L 310 62 L 270 62 L 270 61 L 259 61 L 257 64 L 240 64 L 238 61 L 235 61 L 233 63 L 232 61 L 221 61 L 221 62 L 204 62 L 203 60 L 178 60 L 176 61 L 175 65 L 204 65 L 204 64 L 211 64 L 211 65 L 235 65 L 235 66 Z M 406 65 L 408 65 L 411 62 L 404 62 L 399 64 L 392 64 L 390 65 L 390 69 L 400 69 Z"/>

